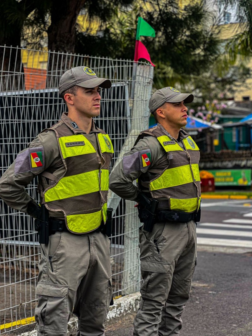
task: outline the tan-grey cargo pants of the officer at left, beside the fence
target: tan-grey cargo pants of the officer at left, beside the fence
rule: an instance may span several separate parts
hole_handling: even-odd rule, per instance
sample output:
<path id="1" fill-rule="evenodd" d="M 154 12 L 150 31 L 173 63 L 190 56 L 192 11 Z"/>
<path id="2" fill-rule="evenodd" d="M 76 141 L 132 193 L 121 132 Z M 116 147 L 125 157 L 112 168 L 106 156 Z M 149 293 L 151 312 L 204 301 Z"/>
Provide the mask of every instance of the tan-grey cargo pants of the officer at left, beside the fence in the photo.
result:
<path id="1" fill-rule="evenodd" d="M 56 232 L 41 244 L 36 287 L 38 336 L 66 336 L 72 312 L 77 336 L 104 335 L 112 297 L 110 240 L 100 232 Z"/>

